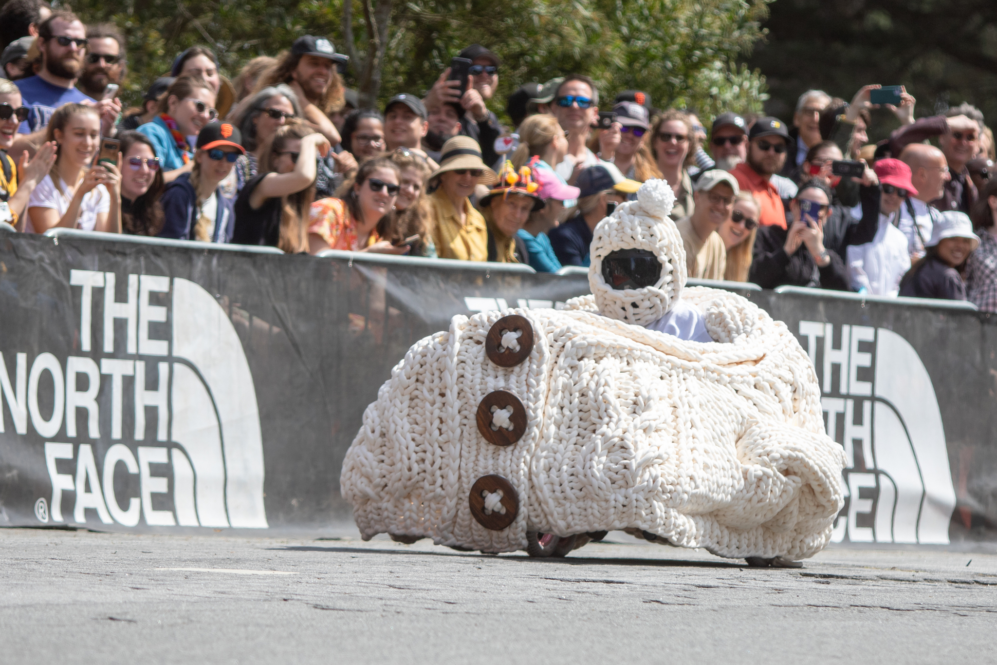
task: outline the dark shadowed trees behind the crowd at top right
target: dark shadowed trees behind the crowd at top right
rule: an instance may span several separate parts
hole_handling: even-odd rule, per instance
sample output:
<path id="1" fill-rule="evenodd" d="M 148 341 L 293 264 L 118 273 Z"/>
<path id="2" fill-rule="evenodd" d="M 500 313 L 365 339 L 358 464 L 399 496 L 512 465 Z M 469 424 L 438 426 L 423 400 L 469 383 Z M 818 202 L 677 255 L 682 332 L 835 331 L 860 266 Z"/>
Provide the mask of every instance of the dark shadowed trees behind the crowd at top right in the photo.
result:
<path id="1" fill-rule="evenodd" d="M 861 86 L 904 85 L 917 116 L 969 102 L 997 119 L 994 0 L 779 0 L 748 60 L 768 77 L 768 108 L 789 118 L 811 88 L 850 100 Z M 870 138 L 895 123 L 873 118 Z"/>

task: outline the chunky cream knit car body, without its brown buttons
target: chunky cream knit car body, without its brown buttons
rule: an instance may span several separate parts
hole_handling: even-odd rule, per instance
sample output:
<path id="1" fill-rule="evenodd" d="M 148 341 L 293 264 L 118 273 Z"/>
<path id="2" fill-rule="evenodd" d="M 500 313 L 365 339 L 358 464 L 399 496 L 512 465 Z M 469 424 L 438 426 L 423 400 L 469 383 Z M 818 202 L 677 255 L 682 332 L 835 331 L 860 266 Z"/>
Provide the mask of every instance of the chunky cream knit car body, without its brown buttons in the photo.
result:
<path id="1" fill-rule="evenodd" d="M 526 531 L 627 529 L 728 557 L 805 558 L 843 504 L 841 447 L 824 432 L 814 366 L 782 322 L 745 298 L 685 289 L 717 342 L 601 316 L 593 296 L 564 310 L 456 316 L 393 369 L 347 452 L 343 497 L 364 538 L 428 536 L 512 551 Z M 529 320 L 534 345 L 501 368 L 485 353 L 499 318 Z M 515 395 L 526 428 L 497 447 L 477 428 L 493 391 Z M 510 525 L 471 514 L 474 483 L 509 482 Z"/>

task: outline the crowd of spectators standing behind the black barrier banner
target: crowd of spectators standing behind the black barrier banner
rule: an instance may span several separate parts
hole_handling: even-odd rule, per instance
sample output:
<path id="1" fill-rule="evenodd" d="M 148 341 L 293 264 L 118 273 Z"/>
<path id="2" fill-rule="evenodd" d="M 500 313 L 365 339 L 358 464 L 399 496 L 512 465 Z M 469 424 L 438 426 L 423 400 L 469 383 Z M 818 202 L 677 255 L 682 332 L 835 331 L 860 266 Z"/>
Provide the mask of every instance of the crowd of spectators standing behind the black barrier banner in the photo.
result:
<path id="1" fill-rule="evenodd" d="M 0 220 L 553 272 L 587 266 L 595 225 L 664 178 L 690 277 L 997 311 L 997 156 L 968 104 L 915 119 L 902 88 L 884 105 L 879 85 L 850 103 L 809 90 L 792 123 L 729 110 L 708 131 L 641 91 L 600 102 L 597 82 L 565 73 L 510 95 L 504 127 L 485 46 L 458 54 L 466 81 L 448 68 L 362 108 L 349 59 L 305 35 L 231 82 L 210 49 L 187 49 L 125 109 L 126 47 L 114 25 L 41 0 L 0 8 Z M 879 106 L 900 129 L 869 144 Z M 106 140 L 117 161 L 98 162 Z"/>

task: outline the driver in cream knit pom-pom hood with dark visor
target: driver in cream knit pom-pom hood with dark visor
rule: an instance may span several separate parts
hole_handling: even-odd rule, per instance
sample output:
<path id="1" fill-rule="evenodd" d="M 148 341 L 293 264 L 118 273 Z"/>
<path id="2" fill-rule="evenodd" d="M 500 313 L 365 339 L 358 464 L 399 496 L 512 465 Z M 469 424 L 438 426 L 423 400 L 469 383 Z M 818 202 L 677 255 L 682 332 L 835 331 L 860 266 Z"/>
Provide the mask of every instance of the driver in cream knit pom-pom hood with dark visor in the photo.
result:
<path id="1" fill-rule="evenodd" d="M 595 227 L 588 285 L 599 313 L 679 339 L 712 342 L 706 318 L 681 298 L 685 286 L 682 235 L 668 217 L 675 194 L 651 179 L 637 200 L 621 203 Z"/>

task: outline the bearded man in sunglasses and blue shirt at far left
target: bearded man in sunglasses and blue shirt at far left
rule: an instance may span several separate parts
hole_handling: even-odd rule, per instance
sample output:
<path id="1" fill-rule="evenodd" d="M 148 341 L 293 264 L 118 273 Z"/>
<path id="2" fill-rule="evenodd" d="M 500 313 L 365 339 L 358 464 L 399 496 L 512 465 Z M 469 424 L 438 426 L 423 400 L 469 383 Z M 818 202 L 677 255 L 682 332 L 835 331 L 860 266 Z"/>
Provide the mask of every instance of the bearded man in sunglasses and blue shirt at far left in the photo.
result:
<path id="1" fill-rule="evenodd" d="M 64 104 L 94 100 L 76 89 L 87 52 L 87 32 L 72 12 L 58 11 L 38 26 L 38 46 L 42 68 L 36 76 L 14 82 L 21 90 L 24 106 L 31 109 L 20 132 L 31 134 L 45 129 L 52 113 Z"/>

